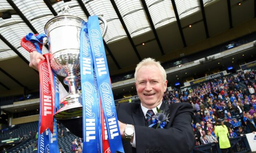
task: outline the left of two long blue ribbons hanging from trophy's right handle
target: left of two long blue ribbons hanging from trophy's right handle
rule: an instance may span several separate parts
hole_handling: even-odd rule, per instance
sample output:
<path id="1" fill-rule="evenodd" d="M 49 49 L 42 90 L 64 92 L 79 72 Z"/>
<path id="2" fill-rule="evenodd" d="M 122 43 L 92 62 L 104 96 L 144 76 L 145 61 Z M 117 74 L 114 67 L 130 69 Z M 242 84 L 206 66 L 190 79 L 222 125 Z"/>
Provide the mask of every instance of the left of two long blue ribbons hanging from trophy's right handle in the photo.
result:
<path id="1" fill-rule="evenodd" d="M 83 153 L 97 153 L 100 148 L 98 117 L 99 95 L 97 80 L 93 73 L 93 60 L 90 49 L 87 25 L 83 26 L 80 34 L 80 72 L 83 101 Z"/>

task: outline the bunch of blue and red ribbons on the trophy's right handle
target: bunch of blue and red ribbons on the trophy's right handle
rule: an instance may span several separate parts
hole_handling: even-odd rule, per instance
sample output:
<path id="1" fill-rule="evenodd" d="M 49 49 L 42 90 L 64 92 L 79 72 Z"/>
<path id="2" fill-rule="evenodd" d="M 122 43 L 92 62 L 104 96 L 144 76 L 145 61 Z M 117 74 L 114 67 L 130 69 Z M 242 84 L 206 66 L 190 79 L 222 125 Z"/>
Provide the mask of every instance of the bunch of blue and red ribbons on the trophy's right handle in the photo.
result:
<path id="1" fill-rule="evenodd" d="M 80 34 L 83 148 L 90 148 L 90 150 L 86 151 L 87 153 L 95 153 L 97 150 L 100 151 L 99 148 L 96 148 L 96 146 L 100 145 L 100 140 L 99 137 L 97 137 L 99 133 L 95 130 L 97 126 L 99 129 L 100 123 L 98 122 L 97 125 L 95 121 L 98 118 L 96 114 L 101 112 L 101 128 L 104 127 L 104 121 L 106 121 L 106 127 L 102 130 L 102 137 L 104 137 L 104 139 L 102 138 L 104 153 L 106 151 L 106 153 L 109 153 L 109 148 L 112 153 L 116 151 L 124 152 L 113 93 L 109 81 L 107 58 L 99 25 L 98 16 L 89 16 L 89 20 L 81 29 Z M 92 88 L 92 84 L 95 87 L 94 90 L 88 90 Z M 103 111 L 100 111 L 96 104 L 100 105 Z M 105 137 L 106 133 L 107 137 Z M 105 138 L 108 138 L 109 146 L 106 141 L 104 141 L 106 140 Z M 102 146 L 100 146 L 100 148 L 101 147 Z M 85 149 L 83 149 L 83 153 L 85 153 Z"/>

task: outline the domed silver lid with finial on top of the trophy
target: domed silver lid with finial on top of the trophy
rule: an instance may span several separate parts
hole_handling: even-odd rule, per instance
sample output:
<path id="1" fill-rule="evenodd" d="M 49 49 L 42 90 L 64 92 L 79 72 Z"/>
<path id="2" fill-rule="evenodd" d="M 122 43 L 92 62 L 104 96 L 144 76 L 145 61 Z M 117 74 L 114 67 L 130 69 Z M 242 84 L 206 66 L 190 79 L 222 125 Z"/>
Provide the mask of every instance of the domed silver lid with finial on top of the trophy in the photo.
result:
<path id="1" fill-rule="evenodd" d="M 77 26 L 78 28 L 82 28 L 85 25 L 85 21 L 83 19 L 69 14 L 69 9 L 69 6 L 63 7 L 62 14 L 47 21 L 44 28 L 47 36 L 51 30 L 60 26 Z"/>

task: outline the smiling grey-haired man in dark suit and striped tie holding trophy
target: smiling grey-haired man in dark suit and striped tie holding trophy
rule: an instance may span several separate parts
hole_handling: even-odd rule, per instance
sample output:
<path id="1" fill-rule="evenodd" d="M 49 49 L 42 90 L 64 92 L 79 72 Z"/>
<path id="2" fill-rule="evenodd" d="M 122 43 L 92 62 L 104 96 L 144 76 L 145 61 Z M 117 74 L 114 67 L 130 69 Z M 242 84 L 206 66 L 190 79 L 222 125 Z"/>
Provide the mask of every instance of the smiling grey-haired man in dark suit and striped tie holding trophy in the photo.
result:
<path id="1" fill-rule="evenodd" d="M 135 69 L 135 86 L 141 103 L 116 107 L 125 153 L 189 153 L 195 144 L 192 106 L 162 102 L 167 80 L 160 63 L 152 58 L 142 60 Z M 152 120 L 154 115 L 159 116 L 158 109 L 164 114 L 160 113 L 159 120 Z M 163 117 L 166 124 L 161 122 Z M 156 123 L 151 127 L 154 121 L 160 121 L 162 126 Z"/>

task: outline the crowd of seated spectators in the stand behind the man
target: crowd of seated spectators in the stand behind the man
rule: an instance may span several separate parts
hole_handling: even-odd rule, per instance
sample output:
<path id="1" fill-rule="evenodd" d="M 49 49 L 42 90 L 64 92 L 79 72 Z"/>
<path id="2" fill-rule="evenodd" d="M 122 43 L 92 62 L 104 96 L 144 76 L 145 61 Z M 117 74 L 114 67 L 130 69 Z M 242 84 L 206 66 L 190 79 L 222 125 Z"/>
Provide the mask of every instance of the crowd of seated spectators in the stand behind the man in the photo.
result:
<path id="1" fill-rule="evenodd" d="M 188 102 L 194 109 L 192 127 L 195 145 L 218 143 L 217 119 L 234 138 L 256 131 L 255 70 L 209 80 L 191 89 L 166 91 L 163 102 Z"/>

